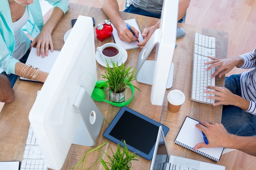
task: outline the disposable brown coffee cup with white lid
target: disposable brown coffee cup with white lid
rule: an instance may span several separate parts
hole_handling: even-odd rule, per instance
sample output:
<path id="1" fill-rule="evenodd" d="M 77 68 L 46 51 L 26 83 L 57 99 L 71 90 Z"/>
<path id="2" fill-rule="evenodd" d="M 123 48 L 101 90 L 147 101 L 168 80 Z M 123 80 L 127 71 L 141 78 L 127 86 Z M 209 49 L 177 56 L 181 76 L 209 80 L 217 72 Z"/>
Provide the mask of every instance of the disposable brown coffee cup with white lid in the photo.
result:
<path id="1" fill-rule="evenodd" d="M 168 110 L 176 113 L 180 110 L 180 106 L 185 102 L 185 95 L 180 90 L 172 90 L 167 95 Z"/>

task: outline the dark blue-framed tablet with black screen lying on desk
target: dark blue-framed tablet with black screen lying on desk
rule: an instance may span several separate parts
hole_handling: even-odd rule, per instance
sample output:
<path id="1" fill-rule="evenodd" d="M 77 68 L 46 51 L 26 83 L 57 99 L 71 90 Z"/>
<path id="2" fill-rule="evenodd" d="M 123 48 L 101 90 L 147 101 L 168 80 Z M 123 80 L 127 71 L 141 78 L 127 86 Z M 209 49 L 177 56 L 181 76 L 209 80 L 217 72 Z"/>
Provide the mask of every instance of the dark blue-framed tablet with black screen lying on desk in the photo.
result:
<path id="1" fill-rule="evenodd" d="M 159 126 L 162 126 L 165 136 L 169 131 L 167 126 L 123 106 L 103 136 L 123 147 L 125 140 L 128 150 L 151 160 Z"/>

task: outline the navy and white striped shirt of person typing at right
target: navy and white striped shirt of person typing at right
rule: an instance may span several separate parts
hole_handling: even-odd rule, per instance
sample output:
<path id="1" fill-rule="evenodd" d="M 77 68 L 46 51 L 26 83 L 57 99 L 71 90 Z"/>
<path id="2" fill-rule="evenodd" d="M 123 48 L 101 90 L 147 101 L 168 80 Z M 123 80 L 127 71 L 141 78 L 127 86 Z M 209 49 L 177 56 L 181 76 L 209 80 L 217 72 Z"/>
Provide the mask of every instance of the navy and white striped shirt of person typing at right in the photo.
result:
<path id="1" fill-rule="evenodd" d="M 241 74 L 240 85 L 242 97 L 250 101 L 250 106 L 248 110 L 245 111 L 256 115 L 256 60 L 251 61 L 254 57 L 254 51 L 240 55 L 239 57 L 242 57 L 244 60 L 244 64 L 240 68 L 253 68 L 251 71 L 246 71 Z"/>

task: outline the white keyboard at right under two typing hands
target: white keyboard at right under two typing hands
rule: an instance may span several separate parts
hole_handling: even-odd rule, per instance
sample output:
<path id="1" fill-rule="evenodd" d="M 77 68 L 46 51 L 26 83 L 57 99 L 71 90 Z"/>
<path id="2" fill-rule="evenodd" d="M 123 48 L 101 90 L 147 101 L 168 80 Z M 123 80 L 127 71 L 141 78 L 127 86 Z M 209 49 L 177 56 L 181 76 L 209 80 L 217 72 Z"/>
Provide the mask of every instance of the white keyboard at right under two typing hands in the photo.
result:
<path id="1" fill-rule="evenodd" d="M 195 33 L 194 53 L 193 53 L 193 71 L 191 84 L 191 99 L 197 102 L 213 104 L 213 99 L 207 99 L 210 95 L 204 93 L 206 86 L 215 86 L 215 77 L 211 75 L 215 72 L 215 68 L 205 71 L 208 65 L 205 62 L 211 61 L 207 56 L 215 57 L 215 38 Z"/>

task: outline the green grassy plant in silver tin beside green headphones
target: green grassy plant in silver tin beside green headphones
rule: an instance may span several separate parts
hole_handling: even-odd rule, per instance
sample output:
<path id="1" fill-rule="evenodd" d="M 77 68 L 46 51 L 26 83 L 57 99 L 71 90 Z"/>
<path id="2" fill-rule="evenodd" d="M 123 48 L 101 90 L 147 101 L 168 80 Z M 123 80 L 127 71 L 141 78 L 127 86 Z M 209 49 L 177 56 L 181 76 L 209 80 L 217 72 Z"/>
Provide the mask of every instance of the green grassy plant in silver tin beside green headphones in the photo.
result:
<path id="1" fill-rule="evenodd" d="M 136 70 L 134 69 L 131 71 L 132 66 L 127 68 L 124 63 L 118 66 L 118 62 L 111 62 L 112 68 L 106 61 L 107 71 L 105 71 L 105 75 L 102 75 L 102 77 L 108 80 L 107 83 L 110 91 L 110 101 L 121 103 L 124 102 L 126 87 L 128 85 L 132 85 L 131 82 L 135 80 Z M 135 86 L 133 87 L 139 90 L 139 88 Z"/>

